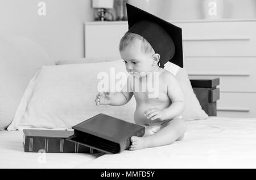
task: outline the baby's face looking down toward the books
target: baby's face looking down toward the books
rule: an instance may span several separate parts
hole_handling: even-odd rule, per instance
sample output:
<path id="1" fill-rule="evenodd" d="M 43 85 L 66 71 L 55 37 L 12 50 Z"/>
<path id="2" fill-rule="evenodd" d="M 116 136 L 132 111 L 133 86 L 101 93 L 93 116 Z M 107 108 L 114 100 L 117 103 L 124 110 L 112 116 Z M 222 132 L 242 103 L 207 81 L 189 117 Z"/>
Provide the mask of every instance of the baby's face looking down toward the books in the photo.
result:
<path id="1" fill-rule="evenodd" d="M 141 46 L 141 40 L 135 39 L 131 45 L 125 47 L 120 52 L 127 72 L 135 77 L 143 77 L 147 73 L 152 72 L 152 55 L 143 53 Z"/>

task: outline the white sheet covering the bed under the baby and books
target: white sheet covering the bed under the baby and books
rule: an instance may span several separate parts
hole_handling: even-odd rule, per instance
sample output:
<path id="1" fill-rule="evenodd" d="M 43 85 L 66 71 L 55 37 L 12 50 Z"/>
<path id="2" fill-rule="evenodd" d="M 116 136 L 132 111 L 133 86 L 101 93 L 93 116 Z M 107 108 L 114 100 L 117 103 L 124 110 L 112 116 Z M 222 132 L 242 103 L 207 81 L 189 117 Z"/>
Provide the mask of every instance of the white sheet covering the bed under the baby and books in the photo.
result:
<path id="1" fill-rule="evenodd" d="M 256 168 L 256 119 L 193 120 L 182 141 L 96 158 L 23 152 L 22 131 L 0 131 L 0 168 Z"/>

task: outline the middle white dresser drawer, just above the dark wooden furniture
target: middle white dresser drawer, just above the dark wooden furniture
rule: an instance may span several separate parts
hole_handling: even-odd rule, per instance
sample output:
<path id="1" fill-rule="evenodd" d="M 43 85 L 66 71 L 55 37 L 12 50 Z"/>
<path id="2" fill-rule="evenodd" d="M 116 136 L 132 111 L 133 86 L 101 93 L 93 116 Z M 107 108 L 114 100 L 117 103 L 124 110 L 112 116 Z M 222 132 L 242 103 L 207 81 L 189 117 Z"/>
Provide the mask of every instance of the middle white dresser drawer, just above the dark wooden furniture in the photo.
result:
<path id="1" fill-rule="evenodd" d="M 220 77 L 221 92 L 256 93 L 256 57 L 185 57 L 189 77 Z"/>

